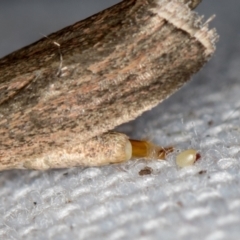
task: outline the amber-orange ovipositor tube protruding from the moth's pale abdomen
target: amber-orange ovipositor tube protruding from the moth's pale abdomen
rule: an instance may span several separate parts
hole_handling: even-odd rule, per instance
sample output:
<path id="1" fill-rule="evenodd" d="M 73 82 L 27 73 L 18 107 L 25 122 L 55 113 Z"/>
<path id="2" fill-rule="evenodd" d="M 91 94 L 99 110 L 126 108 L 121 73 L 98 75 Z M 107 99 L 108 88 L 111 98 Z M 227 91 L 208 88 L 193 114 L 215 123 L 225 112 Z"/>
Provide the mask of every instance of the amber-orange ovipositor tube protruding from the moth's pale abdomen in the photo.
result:
<path id="1" fill-rule="evenodd" d="M 129 139 L 132 144 L 132 158 L 166 159 L 173 151 L 172 147 L 163 148 L 145 140 Z"/>

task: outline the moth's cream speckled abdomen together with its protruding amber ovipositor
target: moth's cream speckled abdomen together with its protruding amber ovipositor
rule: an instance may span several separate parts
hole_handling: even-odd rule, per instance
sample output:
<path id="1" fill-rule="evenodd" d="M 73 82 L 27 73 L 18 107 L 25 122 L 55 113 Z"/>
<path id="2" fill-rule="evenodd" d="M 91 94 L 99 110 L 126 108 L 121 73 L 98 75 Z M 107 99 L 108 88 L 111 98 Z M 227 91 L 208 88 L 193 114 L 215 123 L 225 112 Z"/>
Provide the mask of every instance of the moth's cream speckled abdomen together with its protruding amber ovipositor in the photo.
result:
<path id="1" fill-rule="evenodd" d="M 166 153 L 166 149 L 155 146 L 151 142 L 131 140 L 123 133 L 108 132 L 91 138 L 85 143 L 55 148 L 52 152 L 25 161 L 21 168 L 45 170 L 102 166 L 126 162 L 132 158 L 164 159 Z"/>

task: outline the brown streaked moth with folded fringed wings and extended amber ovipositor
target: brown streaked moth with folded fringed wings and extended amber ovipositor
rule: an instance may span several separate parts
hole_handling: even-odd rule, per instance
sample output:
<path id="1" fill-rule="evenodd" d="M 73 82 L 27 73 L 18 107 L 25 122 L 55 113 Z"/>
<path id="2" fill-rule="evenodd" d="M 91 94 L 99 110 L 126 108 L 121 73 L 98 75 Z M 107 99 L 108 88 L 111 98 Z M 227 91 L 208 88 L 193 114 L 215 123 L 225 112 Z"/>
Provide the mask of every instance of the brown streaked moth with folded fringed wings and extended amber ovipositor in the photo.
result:
<path id="1" fill-rule="evenodd" d="M 124 0 L 0 60 L 0 170 L 163 158 L 110 131 L 150 110 L 206 63 L 217 34 L 200 0 Z"/>

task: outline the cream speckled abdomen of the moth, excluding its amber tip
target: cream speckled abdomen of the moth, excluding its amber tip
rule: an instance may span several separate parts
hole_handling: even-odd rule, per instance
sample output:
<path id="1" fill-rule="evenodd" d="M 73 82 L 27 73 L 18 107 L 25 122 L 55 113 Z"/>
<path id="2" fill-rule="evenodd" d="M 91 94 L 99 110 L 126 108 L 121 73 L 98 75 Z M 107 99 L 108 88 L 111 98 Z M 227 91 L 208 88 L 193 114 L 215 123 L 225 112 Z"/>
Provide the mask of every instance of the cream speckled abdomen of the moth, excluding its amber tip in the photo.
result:
<path id="1" fill-rule="evenodd" d="M 132 145 L 125 134 L 108 132 L 86 142 L 73 141 L 61 148 L 26 159 L 16 168 L 47 170 L 77 166 L 102 166 L 131 159 Z"/>

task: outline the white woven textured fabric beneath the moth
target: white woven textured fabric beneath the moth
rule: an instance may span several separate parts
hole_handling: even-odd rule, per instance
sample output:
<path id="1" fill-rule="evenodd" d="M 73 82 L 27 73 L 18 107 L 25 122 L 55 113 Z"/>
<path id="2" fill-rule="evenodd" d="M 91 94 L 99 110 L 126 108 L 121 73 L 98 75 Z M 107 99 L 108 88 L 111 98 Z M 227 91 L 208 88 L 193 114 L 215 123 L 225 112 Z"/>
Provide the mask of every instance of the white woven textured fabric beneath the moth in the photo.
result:
<path id="1" fill-rule="evenodd" d="M 121 127 L 176 151 L 167 161 L 1 172 L 0 239 L 240 238 L 240 2 L 210 2 L 202 7 L 217 14 L 212 25 L 221 37 L 214 58 L 181 91 Z M 188 148 L 201 159 L 179 169 L 176 154 Z M 146 166 L 153 172 L 140 176 Z"/>

